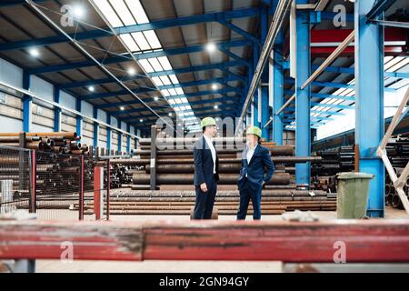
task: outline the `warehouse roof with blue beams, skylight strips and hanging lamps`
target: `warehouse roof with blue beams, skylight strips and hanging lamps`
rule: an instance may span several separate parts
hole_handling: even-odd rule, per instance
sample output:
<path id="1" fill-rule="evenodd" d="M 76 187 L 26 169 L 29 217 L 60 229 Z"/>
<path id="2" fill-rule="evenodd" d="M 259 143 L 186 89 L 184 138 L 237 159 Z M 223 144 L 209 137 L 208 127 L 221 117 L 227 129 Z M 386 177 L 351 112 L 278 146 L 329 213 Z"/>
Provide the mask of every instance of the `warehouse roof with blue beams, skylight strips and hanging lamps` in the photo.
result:
<path id="1" fill-rule="evenodd" d="M 354 4 L 327 2 L 320 1 L 311 13 L 313 71 L 353 30 Z M 399 8 L 405 8 L 405 1 L 393 2 L 385 15 L 399 20 Z M 197 118 L 205 115 L 240 115 L 251 82 L 249 68 L 256 63 L 254 47 L 263 45 L 261 15 L 271 19 L 277 1 L 95 0 L 74 7 L 72 25 L 63 23 L 68 2 L 34 3 L 2 3 L 2 57 L 127 124 L 146 129 L 157 115 L 177 115 L 186 129 L 195 131 Z M 345 23 L 334 29 L 334 7 L 341 4 Z M 34 6 L 60 24 L 122 85 L 45 21 Z M 289 69 L 288 21 L 283 28 L 284 69 Z M 407 34 L 402 27 L 386 27 L 384 35 L 384 85 L 386 90 L 394 90 L 408 82 Z M 351 45 L 311 83 L 313 127 L 354 108 Z M 294 79 L 289 70 L 284 72 L 284 95 L 288 98 L 294 95 Z M 294 129 L 294 119 L 294 105 L 289 105 L 284 109 L 287 129 Z"/>

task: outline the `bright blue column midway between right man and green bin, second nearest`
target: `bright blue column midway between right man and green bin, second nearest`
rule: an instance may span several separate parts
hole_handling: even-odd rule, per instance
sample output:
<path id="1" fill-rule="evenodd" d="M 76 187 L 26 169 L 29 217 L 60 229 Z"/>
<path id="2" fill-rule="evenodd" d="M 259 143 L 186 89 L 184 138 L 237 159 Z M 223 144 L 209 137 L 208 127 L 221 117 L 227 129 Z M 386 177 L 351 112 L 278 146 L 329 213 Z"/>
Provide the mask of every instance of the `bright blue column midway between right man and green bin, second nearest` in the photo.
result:
<path id="1" fill-rule="evenodd" d="M 308 0 L 297 0 L 307 4 Z M 309 12 L 296 12 L 296 78 L 295 78 L 295 155 L 311 156 L 310 86 L 301 85 L 311 75 Z M 310 163 L 295 165 L 296 184 L 310 185 Z"/>

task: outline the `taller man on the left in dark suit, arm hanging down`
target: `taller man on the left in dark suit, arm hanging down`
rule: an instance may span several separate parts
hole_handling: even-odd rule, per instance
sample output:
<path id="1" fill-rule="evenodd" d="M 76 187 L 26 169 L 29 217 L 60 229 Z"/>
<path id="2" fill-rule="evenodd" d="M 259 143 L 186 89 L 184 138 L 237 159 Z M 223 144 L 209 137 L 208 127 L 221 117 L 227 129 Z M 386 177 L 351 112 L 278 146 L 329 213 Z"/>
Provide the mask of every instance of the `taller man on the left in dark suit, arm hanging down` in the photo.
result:
<path id="1" fill-rule="evenodd" d="M 210 219 L 219 180 L 219 160 L 213 138 L 216 132 L 215 120 L 205 117 L 201 122 L 203 136 L 194 147 L 196 202 L 193 219 Z"/>

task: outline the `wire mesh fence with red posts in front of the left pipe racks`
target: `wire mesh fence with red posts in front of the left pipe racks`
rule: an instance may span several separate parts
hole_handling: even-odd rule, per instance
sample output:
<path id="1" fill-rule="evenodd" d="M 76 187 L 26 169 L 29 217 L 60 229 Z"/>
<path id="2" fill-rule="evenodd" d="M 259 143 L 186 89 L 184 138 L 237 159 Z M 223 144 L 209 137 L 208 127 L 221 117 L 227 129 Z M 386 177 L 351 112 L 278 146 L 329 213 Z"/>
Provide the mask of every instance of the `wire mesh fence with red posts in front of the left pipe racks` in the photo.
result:
<path id="1" fill-rule="evenodd" d="M 108 219 L 108 165 L 91 156 L 0 146 L 0 215 L 25 210 L 43 220 Z"/>

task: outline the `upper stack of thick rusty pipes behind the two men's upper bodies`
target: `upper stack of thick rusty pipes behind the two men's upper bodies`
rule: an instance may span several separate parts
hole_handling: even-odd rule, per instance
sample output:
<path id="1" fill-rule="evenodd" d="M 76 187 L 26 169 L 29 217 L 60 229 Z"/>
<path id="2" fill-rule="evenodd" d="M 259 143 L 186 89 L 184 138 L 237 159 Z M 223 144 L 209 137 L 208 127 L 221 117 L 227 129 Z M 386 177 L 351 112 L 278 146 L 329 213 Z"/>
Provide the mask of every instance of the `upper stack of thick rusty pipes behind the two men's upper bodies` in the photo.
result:
<path id="1" fill-rule="evenodd" d="M 155 158 L 155 179 L 157 186 L 164 185 L 193 185 L 195 172 L 193 150 L 182 144 L 179 148 L 178 139 L 156 140 L 156 145 L 167 146 L 171 149 L 157 149 Z M 241 166 L 241 155 L 245 143 L 243 138 L 227 147 L 228 138 L 215 139 L 215 145 L 219 157 L 219 185 L 236 185 L 237 176 Z M 143 169 L 135 172 L 133 176 L 133 189 L 147 189 L 151 179 L 151 140 L 141 139 L 141 149 L 135 151 L 138 159 L 120 160 L 116 163 L 122 165 L 143 166 Z M 193 144 L 191 144 L 193 145 Z M 289 172 L 294 172 L 295 162 L 318 161 L 320 157 L 297 157 L 294 156 L 294 146 L 275 146 L 273 143 L 263 143 L 270 150 L 272 160 L 278 166 L 273 178 L 268 183 L 271 186 L 288 186 L 294 184 L 294 178 Z M 159 146 L 157 146 L 159 147 Z M 174 148 L 177 149 L 174 149 Z M 113 161 L 114 162 L 114 161 Z M 291 166 L 293 165 L 293 166 Z M 281 167 L 280 167 L 281 166 Z M 290 169 L 287 170 L 286 167 Z"/>

